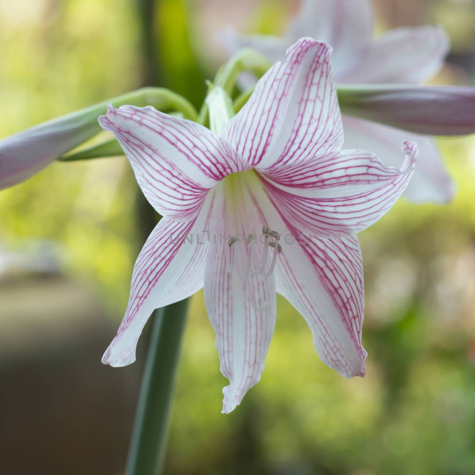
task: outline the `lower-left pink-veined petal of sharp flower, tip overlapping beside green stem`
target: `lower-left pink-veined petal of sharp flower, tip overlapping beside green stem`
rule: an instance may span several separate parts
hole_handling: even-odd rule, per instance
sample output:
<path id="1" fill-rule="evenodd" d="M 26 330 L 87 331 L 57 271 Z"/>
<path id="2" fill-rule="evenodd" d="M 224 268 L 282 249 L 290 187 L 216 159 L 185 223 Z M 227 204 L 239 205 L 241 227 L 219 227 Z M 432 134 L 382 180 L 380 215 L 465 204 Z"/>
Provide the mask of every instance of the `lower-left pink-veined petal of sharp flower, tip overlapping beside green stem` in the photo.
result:
<path id="1" fill-rule="evenodd" d="M 135 262 L 127 310 L 102 357 L 104 364 L 133 363 L 138 339 L 153 310 L 183 300 L 203 287 L 209 251 L 209 235 L 203 231 L 209 229 L 213 209 L 210 192 L 198 218 L 185 223 L 161 218 Z"/>

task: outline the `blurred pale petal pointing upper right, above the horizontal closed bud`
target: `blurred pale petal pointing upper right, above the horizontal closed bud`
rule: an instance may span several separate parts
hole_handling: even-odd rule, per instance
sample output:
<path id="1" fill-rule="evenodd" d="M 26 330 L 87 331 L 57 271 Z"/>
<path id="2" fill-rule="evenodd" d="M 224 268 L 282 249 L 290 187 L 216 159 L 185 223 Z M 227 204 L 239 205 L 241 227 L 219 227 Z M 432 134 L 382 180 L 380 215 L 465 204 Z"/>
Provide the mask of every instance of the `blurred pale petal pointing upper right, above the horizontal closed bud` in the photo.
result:
<path id="1" fill-rule="evenodd" d="M 439 71 L 449 48 L 443 28 L 397 28 L 374 40 L 358 61 L 336 79 L 339 84 L 418 84 Z"/>

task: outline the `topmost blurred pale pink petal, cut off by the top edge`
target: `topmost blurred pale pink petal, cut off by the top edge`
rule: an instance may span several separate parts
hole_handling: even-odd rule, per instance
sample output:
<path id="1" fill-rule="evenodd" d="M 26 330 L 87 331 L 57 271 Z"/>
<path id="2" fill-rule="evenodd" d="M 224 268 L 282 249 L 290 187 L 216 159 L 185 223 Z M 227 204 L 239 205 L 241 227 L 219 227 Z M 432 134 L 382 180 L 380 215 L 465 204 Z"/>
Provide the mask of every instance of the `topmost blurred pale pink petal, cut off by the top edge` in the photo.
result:
<path id="1" fill-rule="evenodd" d="M 373 28 L 373 9 L 368 0 L 303 0 L 286 36 L 296 41 L 308 35 L 332 45 L 333 74 L 338 81 L 371 43 Z"/>

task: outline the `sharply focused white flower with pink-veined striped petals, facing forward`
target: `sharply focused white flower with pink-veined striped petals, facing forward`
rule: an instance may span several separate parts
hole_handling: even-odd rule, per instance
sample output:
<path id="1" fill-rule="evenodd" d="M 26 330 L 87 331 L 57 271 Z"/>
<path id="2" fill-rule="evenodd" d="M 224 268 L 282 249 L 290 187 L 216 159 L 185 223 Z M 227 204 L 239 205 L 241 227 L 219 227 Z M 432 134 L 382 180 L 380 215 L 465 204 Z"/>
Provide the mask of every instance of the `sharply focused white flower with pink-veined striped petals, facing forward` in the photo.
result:
<path id="1" fill-rule="evenodd" d="M 223 412 L 260 379 L 276 292 L 304 316 L 325 364 L 347 378 L 364 376 L 356 233 L 405 190 L 417 145 L 403 143 L 400 170 L 371 152 L 341 150 L 331 51 L 300 39 L 235 117 L 212 118 L 220 124 L 214 130 L 152 107 L 111 106 L 99 118 L 163 216 L 137 258 L 127 310 L 104 363 L 135 361 L 152 311 L 204 286 L 221 372 L 230 382 Z"/>

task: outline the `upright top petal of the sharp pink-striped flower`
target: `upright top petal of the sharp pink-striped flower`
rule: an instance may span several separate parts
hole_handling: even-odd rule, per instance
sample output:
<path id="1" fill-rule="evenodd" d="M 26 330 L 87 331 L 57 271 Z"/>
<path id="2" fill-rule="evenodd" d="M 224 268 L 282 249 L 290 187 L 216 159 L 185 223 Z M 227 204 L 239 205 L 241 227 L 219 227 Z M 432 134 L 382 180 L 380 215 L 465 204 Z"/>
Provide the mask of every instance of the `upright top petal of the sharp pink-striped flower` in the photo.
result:
<path id="1" fill-rule="evenodd" d="M 302 38 L 258 81 L 221 136 L 261 168 L 341 148 L 332 48 Z"/>

